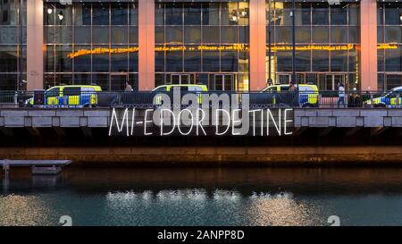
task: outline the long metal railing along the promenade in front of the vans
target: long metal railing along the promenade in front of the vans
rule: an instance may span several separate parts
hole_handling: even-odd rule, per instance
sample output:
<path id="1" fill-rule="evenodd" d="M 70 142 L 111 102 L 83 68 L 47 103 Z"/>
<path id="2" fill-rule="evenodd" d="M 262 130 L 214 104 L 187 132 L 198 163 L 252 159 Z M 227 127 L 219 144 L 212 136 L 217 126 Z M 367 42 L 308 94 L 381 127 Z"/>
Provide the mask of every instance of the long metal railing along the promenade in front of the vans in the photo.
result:
<path id="1" fill-rule="evenodd" d="M 136 107 L 154 108 L 158 92 L 79 92 L 71 94 L 50 94 L 37 91 L 0 91 L 1 107 Z M 163 92 L 171 98 L 173 92 Z M 344 103 L 339 91 L 283 91 L 283 92 L 180 92 L 180 100 L 187 94 L 197 94 L 199 104 L 207 103 L 207 96 L 228 95 L 230 105 L 245 105 L 246 97 L 250 108 L 270 107 L 402 107 L 402 93 L 346 91 Z M 206 96 L 206 97 L 205 97 Z M 156 101 L 156 103 L 155 103 Z"/>

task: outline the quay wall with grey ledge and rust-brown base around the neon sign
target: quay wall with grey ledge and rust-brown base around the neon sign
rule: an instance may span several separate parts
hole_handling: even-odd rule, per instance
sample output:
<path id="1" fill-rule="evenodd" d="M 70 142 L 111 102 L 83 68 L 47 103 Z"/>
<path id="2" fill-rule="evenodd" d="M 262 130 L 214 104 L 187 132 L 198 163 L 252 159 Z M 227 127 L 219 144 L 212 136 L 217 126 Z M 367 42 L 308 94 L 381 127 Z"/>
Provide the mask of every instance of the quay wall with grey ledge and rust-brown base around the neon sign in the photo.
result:
<path id="1" fill-rule="evenodd" d="M 402 109 L 295 108 L 293 114 L 288 136 L 125 137 L 109 136 L 110 108 L 1 109 L 0 157 L 74 164 L 402 164 Z"/>

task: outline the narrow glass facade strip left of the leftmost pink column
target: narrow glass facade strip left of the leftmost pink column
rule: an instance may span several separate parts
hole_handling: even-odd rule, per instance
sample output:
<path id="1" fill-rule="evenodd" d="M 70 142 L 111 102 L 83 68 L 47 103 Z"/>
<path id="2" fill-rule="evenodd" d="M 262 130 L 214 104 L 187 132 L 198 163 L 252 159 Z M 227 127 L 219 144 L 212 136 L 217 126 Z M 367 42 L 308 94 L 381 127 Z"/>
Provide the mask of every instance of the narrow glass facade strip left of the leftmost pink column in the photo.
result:
<path id="1" fill-rule="evenodd" d="M 0 90 L 26 88 L 27 0 L 0 0 Z"/>

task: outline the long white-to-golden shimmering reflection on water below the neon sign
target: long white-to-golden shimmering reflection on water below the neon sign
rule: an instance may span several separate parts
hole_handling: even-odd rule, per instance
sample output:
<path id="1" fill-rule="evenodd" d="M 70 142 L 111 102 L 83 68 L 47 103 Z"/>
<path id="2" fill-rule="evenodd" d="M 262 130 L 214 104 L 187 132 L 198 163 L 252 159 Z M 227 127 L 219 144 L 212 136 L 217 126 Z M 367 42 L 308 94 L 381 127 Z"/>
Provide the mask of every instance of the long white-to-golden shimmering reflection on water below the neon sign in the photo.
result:
<path id="1" fill-rule="evenodd" d="M 210 225 L 214 224 L 213 220 L 226 225 L 259 226 L 314 225 L 320 222 L 314 220 L 320 215 L 317 206 L 297 202 L 290 193 L 253 193 L 247 197 L 237 191 L 217 189 L 209 198 L 203 189 L 184 189 L 162 190 L 155 194 L 155 198 L 153 195 L 152 191 L 109 192 L 106 199 L 107 212 L 113 213 L 109 215 L 110 220 L 116 224 L 152 223 L 155 216 L 147 215 L 151 206 L 151 211 L 161 213 L 157 218 L 158 221 L 163 218 L 163 225 Z M 127 215 L 123 223 L 121 215 Z"/>

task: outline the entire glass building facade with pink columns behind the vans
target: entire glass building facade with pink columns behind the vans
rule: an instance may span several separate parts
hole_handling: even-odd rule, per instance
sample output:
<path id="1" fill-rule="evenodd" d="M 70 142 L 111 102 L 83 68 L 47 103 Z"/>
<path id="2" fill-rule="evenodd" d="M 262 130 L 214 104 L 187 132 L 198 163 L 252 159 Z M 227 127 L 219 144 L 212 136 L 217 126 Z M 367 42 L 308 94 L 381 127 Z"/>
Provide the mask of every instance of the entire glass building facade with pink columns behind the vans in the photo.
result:
<path id="1" fill-rule="evenodd" d="M 293 14 L 289 0 L 0 0 L 0 89 L 287 84 L 293 16 L 297 83 L 402 86 L 402 4 L 330 2 L 297 0 Z"/>

